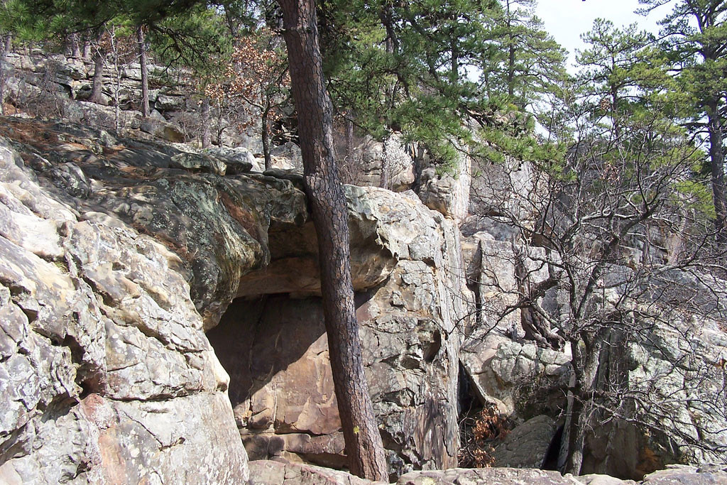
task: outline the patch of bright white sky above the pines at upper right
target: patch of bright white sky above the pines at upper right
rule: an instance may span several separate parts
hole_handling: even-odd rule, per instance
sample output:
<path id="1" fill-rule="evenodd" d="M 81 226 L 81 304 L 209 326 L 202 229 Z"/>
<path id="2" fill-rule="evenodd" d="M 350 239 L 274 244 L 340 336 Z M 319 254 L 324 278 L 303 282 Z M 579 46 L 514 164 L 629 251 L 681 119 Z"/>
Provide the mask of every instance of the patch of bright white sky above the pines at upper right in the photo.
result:
<path id="1" fill-rule="evenodd" d="M 638 23 L 643 30 L 657 33 L 656 21 L 669 9 L 662 7 L 643 17 L 634 13 L 638 7 L 638 0 L 538 0 L 537 15 L 545 23 L 545 30 L 568 49 L 569 71 L 572 71 L 574 51 L 584 47 L 580 35 L 590 31 L 593 20 L 598 17 L 611 20 L 616 27 Z"/>

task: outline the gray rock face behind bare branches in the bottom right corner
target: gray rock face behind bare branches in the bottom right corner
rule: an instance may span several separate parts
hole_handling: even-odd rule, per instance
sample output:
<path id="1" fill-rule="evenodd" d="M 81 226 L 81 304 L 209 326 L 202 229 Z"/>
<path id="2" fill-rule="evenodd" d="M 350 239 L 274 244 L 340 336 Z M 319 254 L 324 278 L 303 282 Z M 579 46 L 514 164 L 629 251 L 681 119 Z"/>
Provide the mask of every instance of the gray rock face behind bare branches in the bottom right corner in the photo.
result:
<path id="1" fill-rule="evenodd" d="M 585 469 L 640 478 L 668 463 L 725 462 L 724 370 L 719 364 L 727 336 L 720 324 L 677 316 L 642 321 L 640 327 L 639 340 L 624 344 L 618 334 L 611 337 L 599 377 L 606 381 L 608 369 L 626 380 L 639 398 L 635 420 L 614 420 L 588 433 Z"/>

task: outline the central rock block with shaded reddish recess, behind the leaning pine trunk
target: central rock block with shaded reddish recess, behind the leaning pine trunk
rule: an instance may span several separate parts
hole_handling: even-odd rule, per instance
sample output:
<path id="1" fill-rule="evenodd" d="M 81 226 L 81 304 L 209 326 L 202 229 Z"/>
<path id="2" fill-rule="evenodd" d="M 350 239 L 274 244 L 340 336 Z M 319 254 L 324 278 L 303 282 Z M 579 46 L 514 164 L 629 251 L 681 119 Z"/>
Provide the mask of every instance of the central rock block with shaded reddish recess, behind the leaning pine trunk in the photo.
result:
<path id="1" fill-rule="evenodd" d="M 390 470 L 456 465 L 467 317 L 456 227 L 415 196 L 354 186 L 346 196 L 364 364 Z M 230 397 L 252 457 L 342 466 L 314 236 L 308 225 L 271 228 L 270 265 L 241 279 L 246 299 L 209 337 L 238 369 Z M 243 348 L 230 344 L 244 335 L 254 337 Z"/>

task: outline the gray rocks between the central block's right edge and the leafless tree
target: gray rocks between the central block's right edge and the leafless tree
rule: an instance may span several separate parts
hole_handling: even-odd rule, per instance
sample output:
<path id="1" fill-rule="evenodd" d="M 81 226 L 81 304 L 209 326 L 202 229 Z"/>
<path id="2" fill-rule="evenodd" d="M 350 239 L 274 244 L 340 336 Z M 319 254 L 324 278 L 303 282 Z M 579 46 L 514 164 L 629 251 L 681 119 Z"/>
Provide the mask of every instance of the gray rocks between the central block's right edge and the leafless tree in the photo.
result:
<path id="1" fill-rule="evenodd" d="M 494 241 L 487 233 L 466 240 L 467 281 L 477 302 L 471 311 L 478 323 L 465 335 L 460 358 L 482 404 L 494 404 L 515 420 L 556 417 L 565 405 L 571 359 L 526 340 L 521 309 L 514 308 L 521 298 L 515 250 L 525 254 L 523 265 L 533 283 L 547 278 L 542 248 Z"/>

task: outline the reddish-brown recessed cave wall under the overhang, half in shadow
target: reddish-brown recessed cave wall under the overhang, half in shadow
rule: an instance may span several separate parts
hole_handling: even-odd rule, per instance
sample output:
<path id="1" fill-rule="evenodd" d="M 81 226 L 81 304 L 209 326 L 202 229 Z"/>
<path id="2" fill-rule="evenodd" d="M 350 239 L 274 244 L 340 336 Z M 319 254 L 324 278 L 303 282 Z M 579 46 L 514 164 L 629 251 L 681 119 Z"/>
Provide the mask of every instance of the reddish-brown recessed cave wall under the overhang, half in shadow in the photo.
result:
<path id="1" fill-rule="evenodd" d="M 345 465 L 320 297 L 237 298 L 207 337 L 251 460 Z"/>

